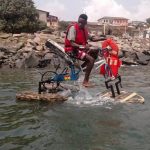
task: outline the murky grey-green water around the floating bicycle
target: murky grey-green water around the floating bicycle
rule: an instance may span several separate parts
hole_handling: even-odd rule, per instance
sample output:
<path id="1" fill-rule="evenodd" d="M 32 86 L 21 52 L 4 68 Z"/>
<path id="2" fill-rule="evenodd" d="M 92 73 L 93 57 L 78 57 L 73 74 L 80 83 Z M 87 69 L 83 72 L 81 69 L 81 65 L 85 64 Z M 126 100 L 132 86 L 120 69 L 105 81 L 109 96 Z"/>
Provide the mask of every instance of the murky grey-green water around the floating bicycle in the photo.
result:
<path id="1" fill-rule="evenodd" d="M 0 150 L 150 150 L 150 67 L 123 67 L 121 74 L 124 89 L 145 104 L 97 99 L 99 76 L 92 77 L 99 86 L 63 104 L 20 102 L 17 92 L 37 90 L 38 71 L 1 70 Z"/>

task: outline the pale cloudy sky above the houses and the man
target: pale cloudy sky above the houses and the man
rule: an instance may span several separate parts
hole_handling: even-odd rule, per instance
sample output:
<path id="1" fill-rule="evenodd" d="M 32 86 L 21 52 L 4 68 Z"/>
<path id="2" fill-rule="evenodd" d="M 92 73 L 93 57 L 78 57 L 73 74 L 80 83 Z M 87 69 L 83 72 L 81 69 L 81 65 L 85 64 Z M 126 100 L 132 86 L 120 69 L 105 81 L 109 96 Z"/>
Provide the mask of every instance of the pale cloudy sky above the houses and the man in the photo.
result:
<path id="1" fill-rule="evenodd" d="M 33 0 L 38 9 L 58 16 L 60 20 L 76 21 L 86 13 L 88 21 L 103 16 L 125 17 L 145 21 L 150 17 L 150 0 Z"/>

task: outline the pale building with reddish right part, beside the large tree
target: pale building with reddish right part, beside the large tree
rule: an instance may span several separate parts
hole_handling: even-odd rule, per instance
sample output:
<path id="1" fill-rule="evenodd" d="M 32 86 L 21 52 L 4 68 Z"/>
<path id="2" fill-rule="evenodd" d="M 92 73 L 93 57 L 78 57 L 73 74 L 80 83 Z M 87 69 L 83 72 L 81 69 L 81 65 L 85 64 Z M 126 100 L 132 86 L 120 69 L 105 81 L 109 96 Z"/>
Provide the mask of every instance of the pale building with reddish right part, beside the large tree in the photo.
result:
<path id="1" fill-rule="evenodd" d="M 37 9 L 39 14 L 39 20 L 47 24 L 48 27 L 57 28 L 58 27 L 58 17 L 52 16 L 49 12 Z"/>

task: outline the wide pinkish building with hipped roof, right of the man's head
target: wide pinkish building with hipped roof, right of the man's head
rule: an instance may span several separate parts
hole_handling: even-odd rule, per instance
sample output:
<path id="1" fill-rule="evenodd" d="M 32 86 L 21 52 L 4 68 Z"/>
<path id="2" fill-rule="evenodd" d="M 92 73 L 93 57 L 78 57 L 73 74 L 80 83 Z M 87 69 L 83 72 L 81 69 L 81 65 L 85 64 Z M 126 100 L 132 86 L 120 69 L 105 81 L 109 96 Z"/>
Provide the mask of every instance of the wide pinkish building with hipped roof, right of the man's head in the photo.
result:
<path id="1" fill-rule="evenodd" d="M 107 24 L 111 26 L 128 26 L 127 18 L 123 17 L 103 17 L 98 19 L 98 24 Z"/>

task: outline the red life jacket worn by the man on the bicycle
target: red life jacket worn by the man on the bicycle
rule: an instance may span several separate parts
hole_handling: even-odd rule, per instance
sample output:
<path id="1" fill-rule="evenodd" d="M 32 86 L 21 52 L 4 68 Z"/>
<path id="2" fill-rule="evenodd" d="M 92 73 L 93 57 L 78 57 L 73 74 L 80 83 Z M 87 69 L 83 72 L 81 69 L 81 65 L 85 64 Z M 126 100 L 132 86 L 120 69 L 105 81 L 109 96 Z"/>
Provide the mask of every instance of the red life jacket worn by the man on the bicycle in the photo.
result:
<path id="1" fill-rule="evenodd" d="M 75 43 L 79 45 L 86 45 L 87 44 L 87 39 L 88 39 L 88 31 L 86 28 L 80 29 L 78 23 L 73 23 L 71 24 L 66 33 L 66 38 L 65 38 L 65 52 L 71 52 L 73 51 L 73 47 L 71 46 L 71 42 L 67 39 L 68 32 L 71 26 L 75 27 L 76 30 L 76 37 L 75 37 Z"/>

